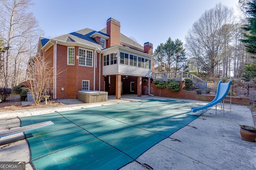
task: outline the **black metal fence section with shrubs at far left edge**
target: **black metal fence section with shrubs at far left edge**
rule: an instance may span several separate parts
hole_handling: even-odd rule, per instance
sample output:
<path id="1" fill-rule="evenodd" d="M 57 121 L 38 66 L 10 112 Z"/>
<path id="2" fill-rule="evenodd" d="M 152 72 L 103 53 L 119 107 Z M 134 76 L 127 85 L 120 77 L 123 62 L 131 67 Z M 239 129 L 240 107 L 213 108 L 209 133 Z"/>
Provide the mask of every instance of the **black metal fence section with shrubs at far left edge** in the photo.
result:
<path id="1" fill-rule="evenodd" d="M 0 88 L 0 100 L 2 102 L 19 102 L 24 100 L 26 96 L 22 95 L 21 91 L 12 90 L 12 88 Z"/>

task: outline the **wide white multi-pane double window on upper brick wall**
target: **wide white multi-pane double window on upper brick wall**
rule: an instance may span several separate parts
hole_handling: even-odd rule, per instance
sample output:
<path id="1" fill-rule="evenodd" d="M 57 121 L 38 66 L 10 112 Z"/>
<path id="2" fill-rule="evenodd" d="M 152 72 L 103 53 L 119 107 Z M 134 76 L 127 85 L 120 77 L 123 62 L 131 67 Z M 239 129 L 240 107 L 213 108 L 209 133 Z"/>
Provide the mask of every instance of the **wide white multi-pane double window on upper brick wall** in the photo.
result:
<path id="1" fill-rule="evenodd" d="M 80 66 L 92 66 L 92 51 L 88 49 L 79 48 L 78 65 Z"/>

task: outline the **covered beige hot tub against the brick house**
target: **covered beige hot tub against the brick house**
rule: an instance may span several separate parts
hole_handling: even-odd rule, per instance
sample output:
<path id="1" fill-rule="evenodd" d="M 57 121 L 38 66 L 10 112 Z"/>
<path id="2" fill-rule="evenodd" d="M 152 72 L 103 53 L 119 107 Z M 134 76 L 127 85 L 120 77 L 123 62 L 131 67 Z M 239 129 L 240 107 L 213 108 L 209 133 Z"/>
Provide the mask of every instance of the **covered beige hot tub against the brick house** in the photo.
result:
<path id="1" fill-rule="evenodd" d="M 93 90 L 78 91 L 78 100 L 84 103 L 105 102 L 108 100 L 108 92 Z"/>

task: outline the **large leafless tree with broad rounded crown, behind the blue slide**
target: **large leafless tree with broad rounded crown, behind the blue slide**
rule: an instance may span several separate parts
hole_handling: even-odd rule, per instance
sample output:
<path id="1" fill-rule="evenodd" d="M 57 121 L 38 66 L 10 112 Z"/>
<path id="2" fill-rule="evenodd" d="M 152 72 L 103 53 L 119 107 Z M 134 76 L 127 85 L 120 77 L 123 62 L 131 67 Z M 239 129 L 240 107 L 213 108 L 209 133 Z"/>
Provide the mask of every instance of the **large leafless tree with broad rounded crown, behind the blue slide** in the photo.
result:
<path id="1" fill-rule="evenodd" d="M 223 25 L 233 21 L 233 10 L 217 4 L 215 8 L 204 12 L 186 36 L 186 42 L 192 43 L 188 46 L 196 46 L 199 49 L 196 50 L 200 54 L 198 60 L 210 76 L 214 76 L 214 70 L 221 61 L 220 51 L 224 46 L 225 35 Z"/>

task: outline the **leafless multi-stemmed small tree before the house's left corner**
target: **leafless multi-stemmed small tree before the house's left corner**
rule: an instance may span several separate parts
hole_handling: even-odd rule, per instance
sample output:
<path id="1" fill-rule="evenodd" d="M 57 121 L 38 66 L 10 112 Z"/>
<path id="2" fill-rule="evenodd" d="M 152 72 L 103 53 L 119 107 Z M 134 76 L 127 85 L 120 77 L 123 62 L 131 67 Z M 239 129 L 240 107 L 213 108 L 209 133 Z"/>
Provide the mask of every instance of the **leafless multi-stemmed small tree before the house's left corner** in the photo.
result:
<path id="1" fill-rule="evenodd" d="M 50 62 L 44 61 L 41 57 L 31 58 L 28 62 L 27 74 L 34 104 L 38 105 L 43 96 L 48 95 L 49 86 L 52 84 L 53 69 Z"/>

